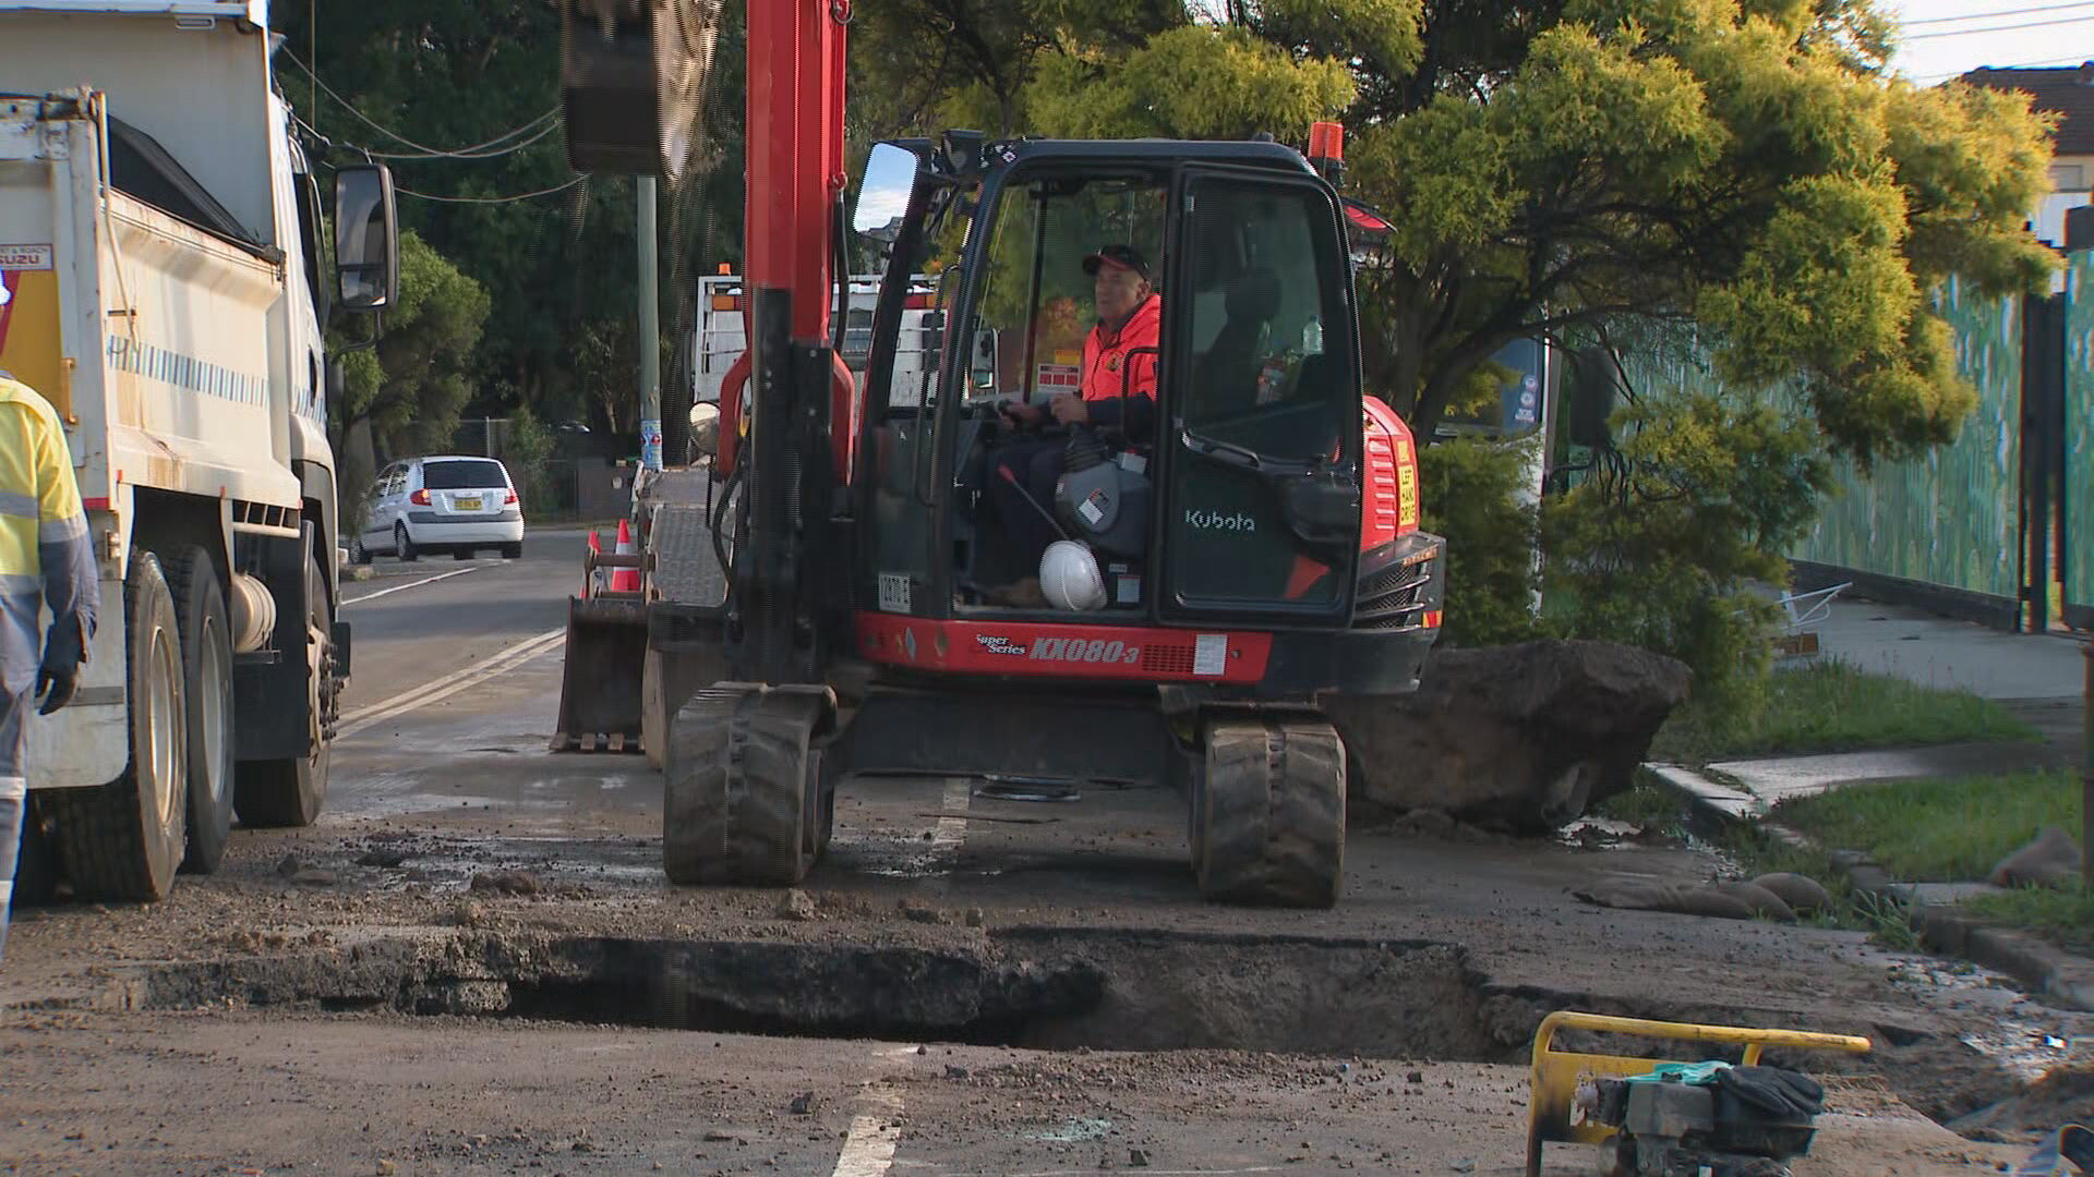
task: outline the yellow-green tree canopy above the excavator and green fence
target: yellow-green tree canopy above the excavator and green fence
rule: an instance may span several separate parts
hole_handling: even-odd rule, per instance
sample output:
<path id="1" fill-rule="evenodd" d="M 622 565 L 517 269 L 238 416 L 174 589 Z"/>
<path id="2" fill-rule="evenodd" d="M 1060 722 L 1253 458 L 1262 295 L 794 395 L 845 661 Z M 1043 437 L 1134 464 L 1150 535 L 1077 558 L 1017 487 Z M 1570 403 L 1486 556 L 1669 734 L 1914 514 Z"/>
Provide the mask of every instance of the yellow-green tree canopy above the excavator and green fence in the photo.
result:
<path id="1" fill-rule="evenodd" d="M 1353 195 L 1397 224 L 1361 274 L 1369 385 L 1422 438 L 1501 346 L 1640 318 L 1740 383 L 1801 375 L 1832 448 L 1903 454 L 1973 404 L 1931 291 L 2052 266 L 2023 230 L 2044 119 L 1887 77 L 1872 0 L 1229 0 L 1139 38 L 1089 8 L 1043 4 L 1020 130 L 1349 126 Z"/>

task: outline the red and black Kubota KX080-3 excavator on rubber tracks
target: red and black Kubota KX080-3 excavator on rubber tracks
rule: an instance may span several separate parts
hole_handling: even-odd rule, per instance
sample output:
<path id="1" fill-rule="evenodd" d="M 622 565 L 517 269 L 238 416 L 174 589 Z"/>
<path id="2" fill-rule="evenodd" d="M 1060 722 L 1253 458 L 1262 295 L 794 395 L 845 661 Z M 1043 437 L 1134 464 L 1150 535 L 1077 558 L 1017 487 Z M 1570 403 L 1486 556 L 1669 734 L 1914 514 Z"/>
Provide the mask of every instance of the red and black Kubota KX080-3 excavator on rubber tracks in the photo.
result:
<path id="1" fill-rule="evenodd" d="M 674 180 L 716 8 L 561 10 L 574 165 Z M 1171 781 L 1206 896 L 1332 905 L 1344 748 L 1319 699 L 1418 687 L 1445 570 L 1411 436 L 1361 396 L 1349 214 L 1372 216 L 1332 186 L 1338 128 L 1307 155 L 955 130 L 873 145 L 850 201 L 848 25 L 850 0 L 750 0 L 750 350 L 706 526 L 643 519 L 637 559 L 712 561 L 725 595 L 576 601 L 561 733 L 649 746 L 678 884 L 800 882 L 840 781 L 976 775 Z M 852 228 L 886 262 L 863 379 Z M 1085 346 L 1106 266 L 1160 299 L 1112 375 Z M 930 356 L 894 379 L 905 343 Z M 1078 387 L 1081 421 L 1024 408 Z"/>

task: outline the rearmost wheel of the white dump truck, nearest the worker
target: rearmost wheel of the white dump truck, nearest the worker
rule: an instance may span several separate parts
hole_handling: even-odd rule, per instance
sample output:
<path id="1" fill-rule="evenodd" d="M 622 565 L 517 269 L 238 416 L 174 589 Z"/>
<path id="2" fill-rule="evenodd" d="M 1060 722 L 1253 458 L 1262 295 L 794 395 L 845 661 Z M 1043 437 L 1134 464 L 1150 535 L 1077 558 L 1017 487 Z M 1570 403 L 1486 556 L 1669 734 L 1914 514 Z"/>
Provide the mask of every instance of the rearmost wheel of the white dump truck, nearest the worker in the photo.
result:
<path id="1" fill-rule="evenodd" d="M 174 595 L 149 551 L 124 580 L 130 767 L 107 785 L 52 790 L 52 831 L 82 898 L 165 898 L 188 827 L 188 712 Z"/>

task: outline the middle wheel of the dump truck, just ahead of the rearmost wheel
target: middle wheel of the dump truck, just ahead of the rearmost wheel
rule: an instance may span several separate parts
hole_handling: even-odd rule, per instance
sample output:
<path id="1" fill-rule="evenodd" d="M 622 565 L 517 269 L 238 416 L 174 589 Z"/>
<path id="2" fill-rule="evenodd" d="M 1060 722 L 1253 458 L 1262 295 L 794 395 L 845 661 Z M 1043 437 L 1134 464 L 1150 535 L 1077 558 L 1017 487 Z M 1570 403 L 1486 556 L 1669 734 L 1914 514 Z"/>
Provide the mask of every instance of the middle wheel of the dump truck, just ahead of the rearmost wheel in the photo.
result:
<path id="1" fill-rule="evenodd" d="M 201 547 L 168 565 L 182 626 L 182 689 L 188 695 L 188 854 L 182 869 L 207 875 L 232 831 L 232 628 L 218 565 Z"/>

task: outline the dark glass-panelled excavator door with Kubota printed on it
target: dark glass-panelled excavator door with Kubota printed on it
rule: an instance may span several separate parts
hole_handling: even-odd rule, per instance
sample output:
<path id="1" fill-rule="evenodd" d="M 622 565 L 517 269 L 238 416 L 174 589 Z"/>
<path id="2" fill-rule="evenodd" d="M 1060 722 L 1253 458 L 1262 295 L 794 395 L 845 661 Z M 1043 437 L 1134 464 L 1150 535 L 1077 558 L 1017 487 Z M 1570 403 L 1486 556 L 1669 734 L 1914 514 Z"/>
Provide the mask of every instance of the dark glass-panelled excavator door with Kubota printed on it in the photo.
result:
<path id="1" fill-rule="evenodd" d="M 1336 199 L 1307 174 L 1185 168 L 1173 216 L 1160 609 L 1344 618 L 1361 394 Z"/>

